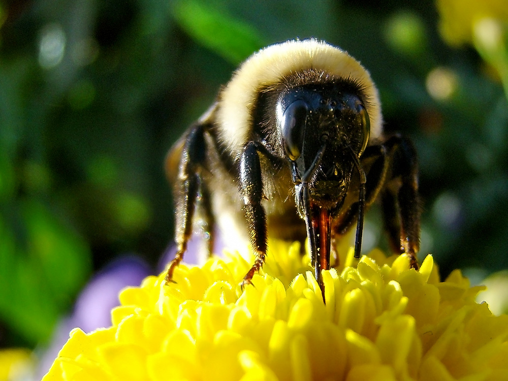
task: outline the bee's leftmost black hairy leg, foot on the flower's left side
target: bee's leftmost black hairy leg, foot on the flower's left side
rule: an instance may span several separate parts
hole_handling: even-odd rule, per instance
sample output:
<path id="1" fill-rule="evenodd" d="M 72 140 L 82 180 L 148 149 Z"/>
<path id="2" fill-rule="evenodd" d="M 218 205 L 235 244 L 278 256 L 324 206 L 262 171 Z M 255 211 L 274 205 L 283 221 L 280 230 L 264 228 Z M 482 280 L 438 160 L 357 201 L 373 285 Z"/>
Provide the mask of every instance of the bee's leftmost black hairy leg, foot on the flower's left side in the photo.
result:
<path id="1" fill-rule="evenodd" d="M 193 217 L 202 184 L 201 171 L 205 163 L 205 138 L 202 125 L 190 130 L 180 157 L 178 177 L 175 183 L 175 242 L 176 256 L 171 261 L 166 282 L 173 281 L 173 272 L 183 259 L 187 242 L 192 235 Z"/>

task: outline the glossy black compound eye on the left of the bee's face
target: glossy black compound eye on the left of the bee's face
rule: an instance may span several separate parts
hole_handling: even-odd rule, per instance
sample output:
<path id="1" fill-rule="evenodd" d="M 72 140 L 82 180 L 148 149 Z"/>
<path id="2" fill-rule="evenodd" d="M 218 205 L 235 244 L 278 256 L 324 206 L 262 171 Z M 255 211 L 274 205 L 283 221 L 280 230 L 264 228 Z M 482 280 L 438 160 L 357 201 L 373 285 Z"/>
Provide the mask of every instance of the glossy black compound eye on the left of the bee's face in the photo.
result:
<path id="1" fill-rule="evenodd" d="M 285 153 L 292 161 L 297 160 L 302 153 L 307 111 L 307 104 L 302 100 L 298 100 L 290 104 L 282 114 L 280 123 L 282 145 Z"/>

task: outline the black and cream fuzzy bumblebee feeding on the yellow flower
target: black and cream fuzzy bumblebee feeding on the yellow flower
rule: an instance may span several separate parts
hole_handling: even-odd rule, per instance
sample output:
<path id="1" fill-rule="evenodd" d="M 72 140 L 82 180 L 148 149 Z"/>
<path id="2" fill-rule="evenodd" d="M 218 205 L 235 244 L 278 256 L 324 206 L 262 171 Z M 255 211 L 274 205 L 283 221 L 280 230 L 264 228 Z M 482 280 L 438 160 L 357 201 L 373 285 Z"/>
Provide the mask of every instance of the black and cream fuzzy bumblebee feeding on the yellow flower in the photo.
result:
<path id="1" fill-rule="evenodd" d="M 331 242 L 356 224 L 359 258 L 364 213 L 377 198 L 393 251 L 418 268 L 415 148 L 400 135 L 384 136 L 369 73 L 326 42 L 292 40 L 251 55 L 171 149 L 166 170 L 174 184 L 177 246 L 167 281 L 198 209 L 210 252 L 217 224 L 255 253 L 242 286 L 263 266 L 269 234 L 308 239 L 324 295 L 321 270 L 330 268 Z"/>

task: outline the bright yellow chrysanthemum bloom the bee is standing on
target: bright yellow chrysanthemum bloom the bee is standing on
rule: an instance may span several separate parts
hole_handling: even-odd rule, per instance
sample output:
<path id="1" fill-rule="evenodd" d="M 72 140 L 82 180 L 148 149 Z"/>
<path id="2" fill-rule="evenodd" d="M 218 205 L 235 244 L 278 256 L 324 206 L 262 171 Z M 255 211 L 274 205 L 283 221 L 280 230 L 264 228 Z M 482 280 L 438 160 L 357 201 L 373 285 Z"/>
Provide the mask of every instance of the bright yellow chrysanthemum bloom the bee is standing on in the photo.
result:
<path id="1" fill-rule="evenodd" d="M 271 242 L 253 285 L 239 256 L 181 265 L 120 294 L 112 326 L 71 332 L 43 379 L 505 380 L 508 316 L 474 302 L 459 271 L 440 282 L 431 256 L 350 250 L 325 271 L 326 304 L 298 244 Z"/>

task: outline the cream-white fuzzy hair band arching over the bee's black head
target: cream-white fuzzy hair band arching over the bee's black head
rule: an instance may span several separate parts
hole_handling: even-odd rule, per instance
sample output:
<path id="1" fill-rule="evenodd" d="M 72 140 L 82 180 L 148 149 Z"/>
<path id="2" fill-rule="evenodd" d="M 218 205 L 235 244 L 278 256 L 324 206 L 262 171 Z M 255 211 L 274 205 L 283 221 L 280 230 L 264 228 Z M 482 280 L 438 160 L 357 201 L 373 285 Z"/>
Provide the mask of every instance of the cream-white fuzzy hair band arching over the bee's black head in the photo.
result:
<path id="1" fill-rule="evenodd" d="M 332 77 L 352 78 L 362 86 L 368 102 L 370 141 L 383 133 L 379 95 L 369 72 L 346 51 L 316 39 L 291 40 L 270 45 L 247 58 L 221 91 L 217 121 L 219 134 L 231 152 L 239 154 L 252 128 L 251 111 L 262 88 L 308 69 Z"/>

